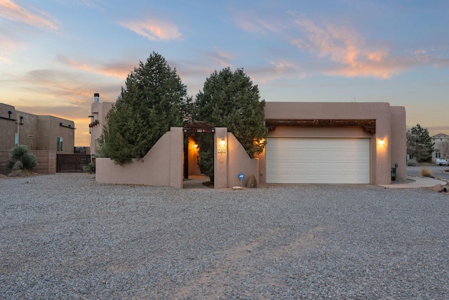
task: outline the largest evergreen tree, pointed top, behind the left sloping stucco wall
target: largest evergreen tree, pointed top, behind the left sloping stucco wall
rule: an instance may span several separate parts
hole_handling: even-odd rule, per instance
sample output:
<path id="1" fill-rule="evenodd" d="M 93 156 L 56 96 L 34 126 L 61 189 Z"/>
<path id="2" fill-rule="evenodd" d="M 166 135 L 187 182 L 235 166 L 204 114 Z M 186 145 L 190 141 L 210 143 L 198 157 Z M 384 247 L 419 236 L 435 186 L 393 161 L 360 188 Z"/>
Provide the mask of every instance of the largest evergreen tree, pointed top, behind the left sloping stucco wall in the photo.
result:
<path id="1" fill-rule="evenodd" d="M 102 155 L 116 164 L 144 157 L 170 127 L 182 126 L 192 101 L 176 69 L 159 53 L 140 62 L 125 84 L 100 138 Z"/>

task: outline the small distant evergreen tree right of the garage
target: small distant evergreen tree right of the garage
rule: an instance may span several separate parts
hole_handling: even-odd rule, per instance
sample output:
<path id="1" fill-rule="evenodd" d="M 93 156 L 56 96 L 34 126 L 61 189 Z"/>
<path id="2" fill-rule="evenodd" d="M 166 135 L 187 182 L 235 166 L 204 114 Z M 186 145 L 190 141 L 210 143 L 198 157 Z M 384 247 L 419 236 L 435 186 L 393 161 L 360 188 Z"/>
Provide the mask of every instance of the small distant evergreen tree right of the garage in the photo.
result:
<path id="1" fill-rule="evenodd" d="M 434 152 L 427 128 L 422 128 L 420 124 L 407 131 L 407 154 L 414 157 L 418 162 L 429 162 Z"/>

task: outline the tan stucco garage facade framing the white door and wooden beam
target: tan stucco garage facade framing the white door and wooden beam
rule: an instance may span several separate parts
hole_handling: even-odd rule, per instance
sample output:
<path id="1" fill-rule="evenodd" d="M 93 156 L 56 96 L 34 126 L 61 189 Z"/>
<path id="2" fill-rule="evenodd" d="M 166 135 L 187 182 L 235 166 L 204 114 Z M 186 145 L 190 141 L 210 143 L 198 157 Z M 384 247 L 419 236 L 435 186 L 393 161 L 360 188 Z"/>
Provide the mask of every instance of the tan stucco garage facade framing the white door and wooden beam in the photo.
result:
<path id="1" fill-rule="evenodd" d="M 391 107 L 389 103 L 265 103 L 266 119 L 375 119 L 375 133 L 361 133 L 361 129 L 333 127 L 290 127 L 276 130 L 269 136 L 295 134 L 296 136 L 349 137 L 359 134 L 370 137 L 371 183 L 391 183 L 391 167 L 398 162 L 398 176 L 405 176 L 406 113 L 404 107 Z M 378 145 L 383 139 L 384 145 Z M 403 150 L 401 150 L 403 149 Z M 403 157 L 403 158 L 402 158 Z M 311 157 L 314 159 L 314 157 Z M 392 159 L 394 162 L 392 162 Z M 260 156 L 260 171 L 264 174 L 264 155 Z M 261 181 L 264 182 L 264 176 Z"/>

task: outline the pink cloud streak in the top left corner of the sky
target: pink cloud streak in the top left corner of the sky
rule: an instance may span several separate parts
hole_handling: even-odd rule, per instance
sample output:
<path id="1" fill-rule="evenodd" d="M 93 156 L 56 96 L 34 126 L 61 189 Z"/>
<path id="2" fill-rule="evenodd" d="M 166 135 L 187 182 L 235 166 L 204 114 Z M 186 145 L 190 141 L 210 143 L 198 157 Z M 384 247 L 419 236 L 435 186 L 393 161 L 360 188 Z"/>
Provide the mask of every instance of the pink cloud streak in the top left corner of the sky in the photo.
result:
<path id="1" fill-rule="evenodd" d="M 40 15 L 31 13 L 25 8 L 18 6 L 11 0 L 0 0 L 0 8 L 0 15 L 4 18 L 8 18 L 16 22 L 24 22 L 39 28 L 58 30 L 58 26 L 55 22 L 50 20 L 51 18 L 44 13 L 40 13 Z"/>

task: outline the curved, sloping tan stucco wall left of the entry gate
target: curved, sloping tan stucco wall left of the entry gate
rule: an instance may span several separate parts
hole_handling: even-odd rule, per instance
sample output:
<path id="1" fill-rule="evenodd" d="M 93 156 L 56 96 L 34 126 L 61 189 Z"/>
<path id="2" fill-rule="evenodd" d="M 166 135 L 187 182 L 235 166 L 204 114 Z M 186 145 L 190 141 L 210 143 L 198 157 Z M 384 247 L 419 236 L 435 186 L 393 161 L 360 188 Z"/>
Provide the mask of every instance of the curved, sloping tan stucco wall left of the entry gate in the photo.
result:
<path id="1" fill-rule="evenodd" d="M 184 133 L 172 128 L 142 159 L 120 166 L 109 158 L 96 159 L 95 180 L 100 183 L 167 185 L 182 188 Z"/>

